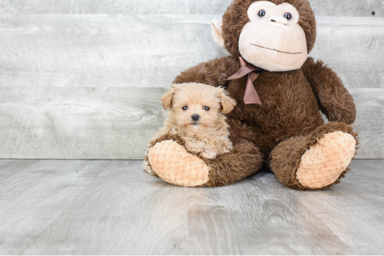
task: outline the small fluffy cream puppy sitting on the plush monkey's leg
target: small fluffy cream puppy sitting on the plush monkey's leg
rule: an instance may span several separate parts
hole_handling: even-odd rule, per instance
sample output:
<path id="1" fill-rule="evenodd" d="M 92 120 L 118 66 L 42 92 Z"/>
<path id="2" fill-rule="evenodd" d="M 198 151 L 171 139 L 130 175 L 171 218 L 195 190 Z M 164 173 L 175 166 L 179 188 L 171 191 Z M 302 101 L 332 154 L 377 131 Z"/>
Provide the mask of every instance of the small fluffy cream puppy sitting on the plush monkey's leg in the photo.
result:
<path id="1" fill-rule="evenodd" d="M 207 159 L 232 150 L 224 114 L 234 109 L 236 101 L 224 89 L 202 83 L 173 84 L 160 100 L 169 113 L 154 139 L 178 134 L 187 151 Z"/>

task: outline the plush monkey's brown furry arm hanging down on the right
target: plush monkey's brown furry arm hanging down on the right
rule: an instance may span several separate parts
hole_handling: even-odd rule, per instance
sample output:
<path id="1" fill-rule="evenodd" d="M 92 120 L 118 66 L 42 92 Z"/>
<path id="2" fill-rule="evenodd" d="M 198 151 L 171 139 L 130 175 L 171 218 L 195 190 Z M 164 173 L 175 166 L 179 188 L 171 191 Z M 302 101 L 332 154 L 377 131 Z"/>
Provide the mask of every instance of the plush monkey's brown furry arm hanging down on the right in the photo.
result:
<path id="1" fill-rule="evenodd" d="M 315 62 L 312 57 L 306 60 L 302 69 L 313 88 L 321 112 L 328 120 L 352 124 L 356 118 L 356 105 L 336 73 L 321 60 Z"/>

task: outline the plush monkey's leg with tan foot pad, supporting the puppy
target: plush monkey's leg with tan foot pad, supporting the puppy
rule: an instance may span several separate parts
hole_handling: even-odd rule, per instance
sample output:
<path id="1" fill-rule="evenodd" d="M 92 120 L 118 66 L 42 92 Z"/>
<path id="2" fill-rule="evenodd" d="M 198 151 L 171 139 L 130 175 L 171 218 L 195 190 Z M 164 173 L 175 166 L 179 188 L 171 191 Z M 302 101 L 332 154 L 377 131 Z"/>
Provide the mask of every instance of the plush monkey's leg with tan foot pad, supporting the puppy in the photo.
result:
<path id="1" fill-rule="evenodd" d="M 232 122 L 236 129 L 240 123 Z M 246 130 L 238 128 L 238 132 Z M 250 133 L 247 133 L 247 136 Z M 233 136 L 232 136 L 233 137 Z M 209 160 L 185 150 L 178 136 L 164 135 L 153 141 L 147 154 L 148 163 L 155 176 L 179 186 L 224 186 L 256 173 L 262 166 L 260 151 L 251 141 L 233 139 L 233 151 Z"/>

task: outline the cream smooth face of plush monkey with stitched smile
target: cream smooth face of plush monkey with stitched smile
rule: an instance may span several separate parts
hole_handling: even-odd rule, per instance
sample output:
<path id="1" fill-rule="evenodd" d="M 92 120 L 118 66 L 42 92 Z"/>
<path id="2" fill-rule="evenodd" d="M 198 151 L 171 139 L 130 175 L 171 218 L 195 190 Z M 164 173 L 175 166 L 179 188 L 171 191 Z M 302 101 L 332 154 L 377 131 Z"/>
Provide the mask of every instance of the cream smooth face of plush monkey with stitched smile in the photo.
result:
<path id="1" fill-rule="evenodd" d="M 290 4 L 259 1 L 249 6 L 248 22 L 240 33 L 241 56 L 268 71 L 300 69 L 308 58 L 299 12 Z"/>

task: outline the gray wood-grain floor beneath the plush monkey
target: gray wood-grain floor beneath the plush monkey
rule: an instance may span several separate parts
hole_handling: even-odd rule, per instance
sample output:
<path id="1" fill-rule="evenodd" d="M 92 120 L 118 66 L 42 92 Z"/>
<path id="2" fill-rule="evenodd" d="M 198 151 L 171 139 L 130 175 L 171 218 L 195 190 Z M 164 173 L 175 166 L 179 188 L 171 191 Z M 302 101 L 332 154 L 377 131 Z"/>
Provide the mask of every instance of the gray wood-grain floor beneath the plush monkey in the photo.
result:
<path id="1" fill-rule="evenodd" d="M 167 184 L 141 161 L 0 160 L 0 254 L 382 255 L 384 160 L 302 192 L 259 173 Z"/>

